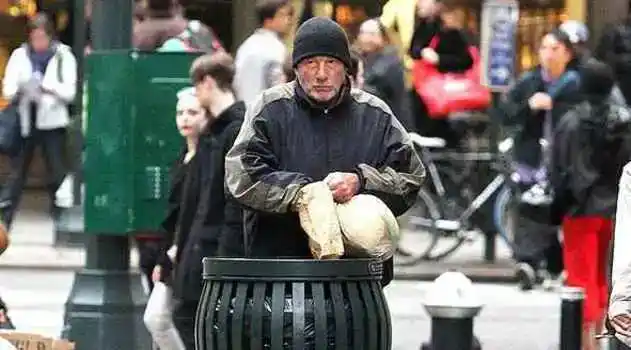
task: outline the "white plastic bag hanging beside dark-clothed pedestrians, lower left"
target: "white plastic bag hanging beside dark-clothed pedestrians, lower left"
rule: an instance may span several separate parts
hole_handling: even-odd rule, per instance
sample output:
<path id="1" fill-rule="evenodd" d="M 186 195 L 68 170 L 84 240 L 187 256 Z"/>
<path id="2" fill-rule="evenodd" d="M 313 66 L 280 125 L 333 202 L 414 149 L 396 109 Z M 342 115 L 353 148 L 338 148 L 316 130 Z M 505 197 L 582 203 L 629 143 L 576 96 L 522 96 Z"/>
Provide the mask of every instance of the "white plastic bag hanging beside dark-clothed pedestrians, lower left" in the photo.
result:
<path id="1" fill-rule="evenodd" d="M 180 333 L 173 324 L 173 293 L 171 288 L 162 282 L 156 282 L 143 321 L 151 333 L 153 341 L 160 349 L 186 350 Z"/>

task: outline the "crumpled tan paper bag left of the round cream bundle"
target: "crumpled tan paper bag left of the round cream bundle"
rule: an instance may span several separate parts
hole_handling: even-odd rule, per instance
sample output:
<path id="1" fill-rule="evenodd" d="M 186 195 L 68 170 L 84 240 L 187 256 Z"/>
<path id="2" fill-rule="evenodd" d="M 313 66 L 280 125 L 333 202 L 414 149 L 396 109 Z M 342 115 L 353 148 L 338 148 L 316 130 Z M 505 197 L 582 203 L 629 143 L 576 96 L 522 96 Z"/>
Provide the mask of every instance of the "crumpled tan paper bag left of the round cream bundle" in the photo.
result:
<path id="1" fill-rule="evenodd" d="M 300 189 L 294 209 L 300 226 L 309 236 L 309 248 L 316 259 L 338 259 L 344 255 L 342 231 L 329 186 L 320 181 Z"/>

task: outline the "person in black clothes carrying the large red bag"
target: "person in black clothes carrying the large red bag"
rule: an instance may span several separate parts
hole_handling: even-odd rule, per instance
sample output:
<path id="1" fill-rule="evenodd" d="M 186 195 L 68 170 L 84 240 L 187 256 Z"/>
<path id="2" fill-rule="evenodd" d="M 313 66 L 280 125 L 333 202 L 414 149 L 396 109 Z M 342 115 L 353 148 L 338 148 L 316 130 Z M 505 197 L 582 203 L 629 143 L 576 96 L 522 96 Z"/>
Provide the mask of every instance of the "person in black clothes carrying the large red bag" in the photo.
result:
<path id="1" fill-rule="evenodd" d="M 459 28 L 456 8 L 441 4 L 439 20 L 424 21 L 412 38 L 410 57 L 423 59 L 438 68 L 441 73 L 462 73 L 473 66 L 469 53 L 469 42 L 465 32 Z M 423 79 L 423 77 L 415 77 Z M 431 118 L 422 98 L 414 93 L 412 110 L 415 112 L 418 133 L 424 136 L 441 137 L 449 147 L 460 144 L 460 136 L 449 124 L 449 119 Z"/>

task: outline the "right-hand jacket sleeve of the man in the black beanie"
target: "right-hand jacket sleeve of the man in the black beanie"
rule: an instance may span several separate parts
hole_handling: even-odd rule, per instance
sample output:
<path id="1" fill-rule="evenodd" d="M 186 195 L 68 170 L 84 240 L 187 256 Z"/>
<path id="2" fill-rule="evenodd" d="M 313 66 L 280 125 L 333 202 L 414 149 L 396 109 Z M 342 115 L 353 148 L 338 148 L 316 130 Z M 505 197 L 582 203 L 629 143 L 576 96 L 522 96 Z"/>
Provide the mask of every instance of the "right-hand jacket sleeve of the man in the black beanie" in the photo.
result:
<path id="1" fill-rule="evenodd" d="M 384 108 L 387 108 L 385 104 Z M 400 216 L 416 202 L 425 178 L 425 167 L 401 123 L 389 109 L 387 111 L 388 125 L 380 165 L 359 164 L 357 173 L 362 183 L 361 192 L 378 197 L 395 216 Z"/>

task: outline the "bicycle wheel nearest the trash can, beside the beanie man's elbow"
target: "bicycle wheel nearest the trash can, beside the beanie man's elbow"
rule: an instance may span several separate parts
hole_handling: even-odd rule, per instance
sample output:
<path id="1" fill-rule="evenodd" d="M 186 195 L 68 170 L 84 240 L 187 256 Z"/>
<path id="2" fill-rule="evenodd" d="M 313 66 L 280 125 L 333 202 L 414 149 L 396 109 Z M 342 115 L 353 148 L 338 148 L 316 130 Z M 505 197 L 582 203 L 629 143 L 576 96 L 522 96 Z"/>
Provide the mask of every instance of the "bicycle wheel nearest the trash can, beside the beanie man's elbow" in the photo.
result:
<path id="1" fill-rule="evenodd" d="M 425 189 L 421 189 L 416 204 L 399 217 L 402 234 L 397 243 L 395 264 L 410 266 L 426 259 L 439 236 L 433 223 L 441 217 L 442 213 L 433 196 Z M 424 220 L 429 220 L 432 224 L 420 225 L 418 223 Z"/>

